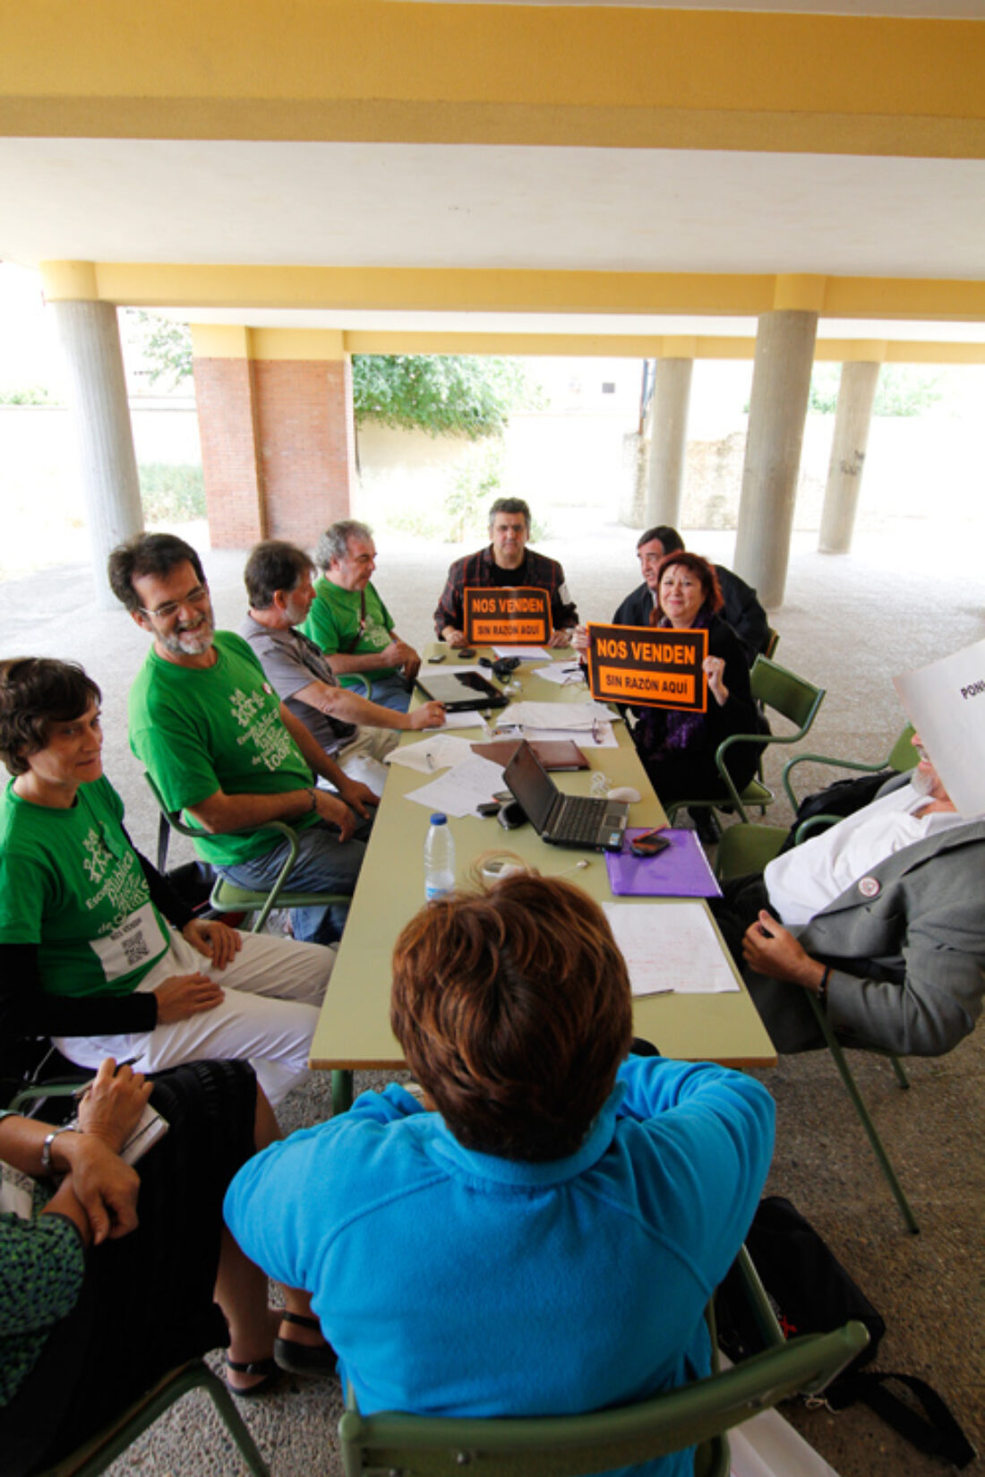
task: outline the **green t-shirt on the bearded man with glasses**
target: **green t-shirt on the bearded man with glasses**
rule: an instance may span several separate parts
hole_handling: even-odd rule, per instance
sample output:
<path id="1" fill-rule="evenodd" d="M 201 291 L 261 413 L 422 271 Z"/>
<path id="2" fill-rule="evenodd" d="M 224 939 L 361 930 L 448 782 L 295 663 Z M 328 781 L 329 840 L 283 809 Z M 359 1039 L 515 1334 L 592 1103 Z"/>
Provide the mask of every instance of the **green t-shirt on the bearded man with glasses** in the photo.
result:
<path id="1" fill-rule="evenodd" d="M 301 750 L 281 719 L 281 699 L 263 668 L 232 631 L 216 632 L 214 666 L 179 666 L 155 651 L 130 688 L 130 747 L 170 811 L 191 809 L 210 795 L 284 795 L 315 784 Z M 189 826 L 195 820 L 188 817 Z M 310 814 L 291 824 L 318 823 Z M 232 867 L 281 845 L 276 832 L 208 836 L 204 861 Z"/>

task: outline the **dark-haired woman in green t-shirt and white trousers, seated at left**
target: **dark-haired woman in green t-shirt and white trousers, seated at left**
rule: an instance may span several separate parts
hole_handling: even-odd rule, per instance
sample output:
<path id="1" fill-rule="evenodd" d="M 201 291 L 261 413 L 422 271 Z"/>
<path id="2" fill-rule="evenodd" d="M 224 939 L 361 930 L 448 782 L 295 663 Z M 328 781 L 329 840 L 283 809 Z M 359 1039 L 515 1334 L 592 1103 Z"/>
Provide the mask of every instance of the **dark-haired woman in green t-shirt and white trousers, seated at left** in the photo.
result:
<path id="1" fill-rule="evenodd" d="M 334 956 L 192 916 L 127 836 L 99 703 L 74 663 L 0 662 L 0 1069 L 18 1075 L 31 1037 L 80 1065 L 248 1058 L 276 1103 Z"/>

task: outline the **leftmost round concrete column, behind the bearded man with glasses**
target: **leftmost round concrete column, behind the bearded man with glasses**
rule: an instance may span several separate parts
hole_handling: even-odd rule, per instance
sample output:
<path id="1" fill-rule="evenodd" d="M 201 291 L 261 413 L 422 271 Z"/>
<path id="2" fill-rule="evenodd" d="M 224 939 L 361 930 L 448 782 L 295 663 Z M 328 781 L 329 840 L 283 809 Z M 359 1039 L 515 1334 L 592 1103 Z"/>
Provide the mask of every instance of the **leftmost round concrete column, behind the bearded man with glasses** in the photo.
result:
<path id="1" fill-rule="evenodd" d="M 143 527 L 117 309 L 78 300 L 53 307 L 71 377 L 96 600 L 111 609 L 106 555 Z"/>

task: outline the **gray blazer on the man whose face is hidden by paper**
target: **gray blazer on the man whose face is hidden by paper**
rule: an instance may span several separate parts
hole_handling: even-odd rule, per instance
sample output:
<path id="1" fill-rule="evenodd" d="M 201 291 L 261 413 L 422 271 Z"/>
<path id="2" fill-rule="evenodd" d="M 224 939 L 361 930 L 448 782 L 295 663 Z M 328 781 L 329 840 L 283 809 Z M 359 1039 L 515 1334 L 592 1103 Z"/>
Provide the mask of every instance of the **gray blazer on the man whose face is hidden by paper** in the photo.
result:
<path id="1" fill-rule="evenodd" d="M 985 820 L 886 858 L 818 913 L 800 942 L 833 966 L 827 1012 L 846 1046 L 950 1052 L 985 993 Z M 752 972 L 746 981 L 778 1050 L 821 1044 L 799 985 Z"/>

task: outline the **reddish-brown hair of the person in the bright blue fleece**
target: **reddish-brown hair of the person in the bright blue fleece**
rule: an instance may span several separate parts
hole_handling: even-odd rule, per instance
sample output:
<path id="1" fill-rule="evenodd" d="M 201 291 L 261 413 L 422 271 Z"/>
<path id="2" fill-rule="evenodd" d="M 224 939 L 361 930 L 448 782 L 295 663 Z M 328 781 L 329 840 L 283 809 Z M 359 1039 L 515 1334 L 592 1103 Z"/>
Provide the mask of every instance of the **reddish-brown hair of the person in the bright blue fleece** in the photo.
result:
<path id="1" fill-rule="evenodd" d="M 629 1052 L 626 963 L 601 908 L 532 873 L 428 902 L 393 956 L 390 1025 L 468 1149 L 560 1159 Z"/>

